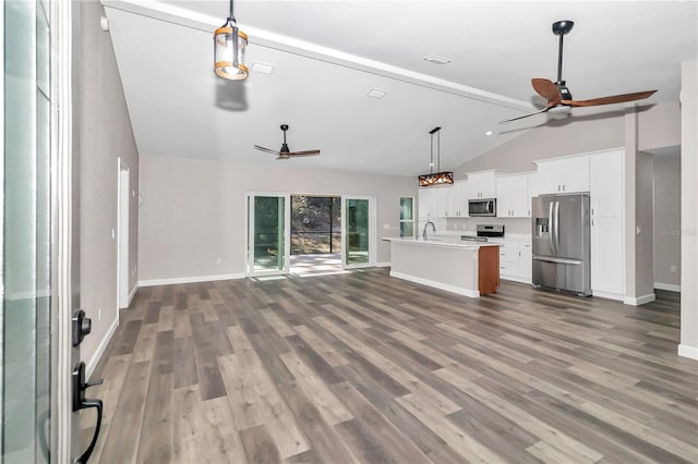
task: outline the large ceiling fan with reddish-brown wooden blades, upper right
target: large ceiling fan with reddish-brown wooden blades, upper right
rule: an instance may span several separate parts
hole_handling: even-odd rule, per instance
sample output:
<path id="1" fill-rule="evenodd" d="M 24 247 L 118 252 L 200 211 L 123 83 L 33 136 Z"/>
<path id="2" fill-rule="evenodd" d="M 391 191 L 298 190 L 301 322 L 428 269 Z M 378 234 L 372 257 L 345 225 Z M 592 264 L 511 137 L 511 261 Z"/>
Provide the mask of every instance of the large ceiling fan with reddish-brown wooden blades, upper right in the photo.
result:
<path id="1" fill-rule="evenodd" d="M 613 95 L 610 97 L 592 98 L 590 100 L 574 100 L 571 97 L 571 93 L 565 84 L 565 81 L 563 81 L 563 37 L 571 30 L 574 25 L 574 21 L 557 21 L 553 23 L 553 34 L 559 36 L 559 49 L 557 52 L 557 82 L 552 82 L 546 78 L 531 80 L 533 89 L 538 93 L 538 95 L 547 99 L 547 103 L 545 105 L 545 107 L 542 110 L 534 111 L 529 114 L 500 121 L 501 123 L 516 121 L 518 119 L 528 118 L 533 114 L 544 113 L 557 107 L 597 107 L 600 105 L 624 103 L 626 101 L 642 100 L 657 91 L 647 90 L 637 91 L 634 94 L 622 94 Z"/>

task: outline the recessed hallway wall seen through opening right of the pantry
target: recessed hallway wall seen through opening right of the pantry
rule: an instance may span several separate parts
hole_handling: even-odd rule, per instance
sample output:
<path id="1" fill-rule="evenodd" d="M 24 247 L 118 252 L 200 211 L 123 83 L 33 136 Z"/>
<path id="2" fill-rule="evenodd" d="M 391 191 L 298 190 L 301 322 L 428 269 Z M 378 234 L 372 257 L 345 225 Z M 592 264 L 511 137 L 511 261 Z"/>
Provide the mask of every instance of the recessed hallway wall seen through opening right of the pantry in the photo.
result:
<path id="1" fill-rule="evenodd" d="M 654 155 L 654 283 L 681 286 L 681 156 Z M 675 270 L 672 271 L 672 266 Z"/>

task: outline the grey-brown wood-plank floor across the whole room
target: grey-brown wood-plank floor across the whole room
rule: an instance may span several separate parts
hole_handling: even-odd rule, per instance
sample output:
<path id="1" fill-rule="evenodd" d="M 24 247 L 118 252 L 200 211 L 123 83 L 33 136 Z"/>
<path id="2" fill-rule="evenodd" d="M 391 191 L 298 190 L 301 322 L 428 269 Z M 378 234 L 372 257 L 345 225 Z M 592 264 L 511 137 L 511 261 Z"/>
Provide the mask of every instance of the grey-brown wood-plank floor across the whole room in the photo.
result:
<path id="1" fill-rule="evenodd" d="M 468 298 L 375 269 L 146 288 L 121 318 L 93 462 L 698 462 L 671 292 Z"/>

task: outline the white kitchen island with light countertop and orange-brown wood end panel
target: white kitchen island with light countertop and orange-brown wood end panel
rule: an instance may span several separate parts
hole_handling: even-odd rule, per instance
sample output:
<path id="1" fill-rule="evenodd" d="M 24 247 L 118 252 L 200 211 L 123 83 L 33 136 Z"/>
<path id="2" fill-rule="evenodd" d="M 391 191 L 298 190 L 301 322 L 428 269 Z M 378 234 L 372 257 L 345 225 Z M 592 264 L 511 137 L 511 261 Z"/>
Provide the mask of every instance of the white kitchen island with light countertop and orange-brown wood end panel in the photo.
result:
<path id="1" fill-rule="evenodd" d="M 465 296 L 495 293 L 500 284 L 500 245 L 444 239 L 390 242 L 390 276 Z"/>

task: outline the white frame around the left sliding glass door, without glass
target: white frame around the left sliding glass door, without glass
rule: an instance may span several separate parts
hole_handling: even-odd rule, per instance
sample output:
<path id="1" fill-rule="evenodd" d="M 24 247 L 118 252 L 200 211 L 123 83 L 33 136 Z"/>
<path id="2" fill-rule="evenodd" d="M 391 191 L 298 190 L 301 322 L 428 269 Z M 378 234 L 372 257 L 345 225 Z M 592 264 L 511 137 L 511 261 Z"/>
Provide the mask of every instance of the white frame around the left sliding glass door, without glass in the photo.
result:
<path id="1" fill-rule="evenodd" d="M 282 197 L 284 198 L 284 266 L 281 269 L 254 270 L 254 235 L 252 227 L 254 221 L 254 197 Z M 291 194 L 288 192 L 256 192 L 244 193 L 244 274 L 245 277 L 282 276 L 290 272 L 291 268 Z"/>

